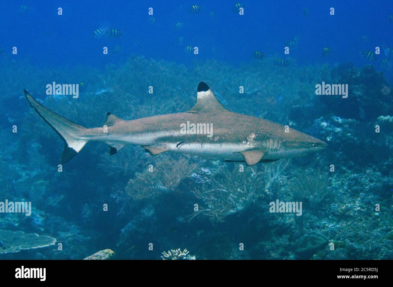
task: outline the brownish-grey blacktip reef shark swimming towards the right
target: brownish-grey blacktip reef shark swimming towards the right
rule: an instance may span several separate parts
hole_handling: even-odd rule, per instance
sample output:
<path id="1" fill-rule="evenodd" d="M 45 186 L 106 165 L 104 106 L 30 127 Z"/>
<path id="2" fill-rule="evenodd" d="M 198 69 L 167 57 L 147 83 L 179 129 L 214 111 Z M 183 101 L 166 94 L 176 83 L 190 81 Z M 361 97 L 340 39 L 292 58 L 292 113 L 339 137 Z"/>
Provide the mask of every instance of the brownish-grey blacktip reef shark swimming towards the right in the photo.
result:
<path id="1" fill-rule="evenodd" d="M 200 82 L 195 106 L 185 113 L 122 120 L 107 113 L 101 127 L 85 128 L 39 104 L 24 90 L 32 108 L 64 140 L 61 163 L 72 159 L 90 141 L 105 142 L 110 154 L 124 145 L 140 145 L 150 154 L 166 151 L 222 158 L 227 162 L 274 162 L 305 156 L 327 143 L 284 125 L 226 110 L 211 89 Z"/>

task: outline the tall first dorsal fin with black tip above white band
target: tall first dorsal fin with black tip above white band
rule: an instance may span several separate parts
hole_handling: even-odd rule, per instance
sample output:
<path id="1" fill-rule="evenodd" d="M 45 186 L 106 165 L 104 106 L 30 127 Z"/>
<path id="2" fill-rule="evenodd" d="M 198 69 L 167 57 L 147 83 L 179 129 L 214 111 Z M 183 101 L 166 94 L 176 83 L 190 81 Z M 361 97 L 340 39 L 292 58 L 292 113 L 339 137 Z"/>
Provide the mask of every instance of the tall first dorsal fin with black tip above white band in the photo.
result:
<path id="1" fill-rule="evenodd" d="M 188 113 L 209 113 L 214 111 L 226 111 L 219 100 L 213 94 L 208 85 L 200 82 L 195 106 Z"/>

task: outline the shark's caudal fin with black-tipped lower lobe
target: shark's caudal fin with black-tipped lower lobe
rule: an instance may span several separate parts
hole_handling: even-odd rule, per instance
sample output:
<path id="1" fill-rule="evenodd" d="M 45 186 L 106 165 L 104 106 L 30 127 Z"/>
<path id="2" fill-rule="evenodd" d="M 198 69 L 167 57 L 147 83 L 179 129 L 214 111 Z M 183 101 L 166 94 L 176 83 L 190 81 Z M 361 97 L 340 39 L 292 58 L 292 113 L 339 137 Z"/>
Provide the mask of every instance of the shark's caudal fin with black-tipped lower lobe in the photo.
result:
<path id="1" fill-rule="evenodd" d="M 34 100 L 28 91 L 25 89 L 23 91 L 30 107 L 34 108 L 37 114 L 39 114 L 40 117 L 43 118 L 44 121 L 64 140 L 64 151 L 61 156 L 61 163 L 68 162 L 79 153 L 88 142 L 88 140 L 84 139 L 88 129 L 52 112 L 50 109 L 47 109 Z"/>

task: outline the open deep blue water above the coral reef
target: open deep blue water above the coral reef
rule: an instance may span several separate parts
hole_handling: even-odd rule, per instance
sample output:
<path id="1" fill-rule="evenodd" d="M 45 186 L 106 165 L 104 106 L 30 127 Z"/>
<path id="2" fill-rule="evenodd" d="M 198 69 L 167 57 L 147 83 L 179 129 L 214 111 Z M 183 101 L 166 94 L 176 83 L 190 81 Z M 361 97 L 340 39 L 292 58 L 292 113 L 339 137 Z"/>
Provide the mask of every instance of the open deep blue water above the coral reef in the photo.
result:
<path id="1" fill-rule="evenodd" d="M 31 13 L 20 13 L 25 4 Z M 290 51 L 298 64 L 352 61 L 364 65 L 360 50 L 392 45 L 389 1 L 249 1 L 243 16 L 233 13 L 234 2 L 199 1 L 200 13 L 189 13 L 193 1 L 163 3 L 161 1 L 15 1 L 2 3 L 1 44 L 6 53 L 18 47 L 18 59 L 34 65 L 63 67 L 90 65 L 103 67 L 124 61 L 102 53 L 103 46 L 124 46 L 128 55 L 191 64 L 184 55 L 184 45 L 199 48 L 198 61 L 215 58 L 238 65 L 250 62 L 253 51 L 284 55 L 284 44 L 299 37 L 299 46 Z M 63 15 L 57 15 L 57 9 Z M 149 7 L 156 24 L 150 25 Z M 307 16 L 303 9 L 309 9 Z M 335 15 L 330 15 L 334 7 Z M 214 16 L 210 13 L 213 12 Z M 177 31 L 176 22 L 185 27 Z M 100 27 L 116 28 L 125 33 L 120 39 L 106 37 L 92 40 Z M 178 45 L 182 36 L 183 46 Z M 364 36 L 364 39 L 362 38 Z M 330 47 L 334 53 L 321 56 Z M 382 56 L 378 57 L 382 60 Z M 378 65 L 379 66 L 379 65 Z"/>

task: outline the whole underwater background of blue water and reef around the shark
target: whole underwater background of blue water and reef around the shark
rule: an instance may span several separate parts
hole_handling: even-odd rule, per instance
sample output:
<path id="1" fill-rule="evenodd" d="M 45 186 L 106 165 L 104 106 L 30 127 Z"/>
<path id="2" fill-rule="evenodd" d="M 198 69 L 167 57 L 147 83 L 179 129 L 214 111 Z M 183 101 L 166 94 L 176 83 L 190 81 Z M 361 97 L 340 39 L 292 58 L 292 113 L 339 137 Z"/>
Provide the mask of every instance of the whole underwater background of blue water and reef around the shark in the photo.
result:
<path id="1" fill-rule="evenodd" d="M 0 213 L 0 259 L 393 259 L 392 14 L 382 0 L 0 3 L 0 202 L 32 206 Z M 96 127 L 187 111 L 200 81 L 329 147 L 239 172 L 90 142 L 59 172 L 64 144 L 23 96 Z M 47 95 L 53 82 L 79 97 Z M 348 97 L 316 95 L 322 82 Z M 302 215 L 271 213 L 276 200 Z"/>

